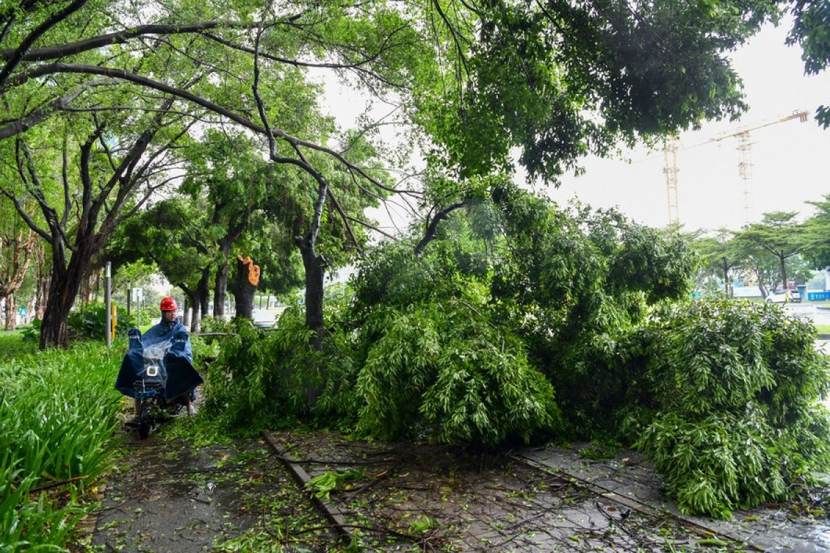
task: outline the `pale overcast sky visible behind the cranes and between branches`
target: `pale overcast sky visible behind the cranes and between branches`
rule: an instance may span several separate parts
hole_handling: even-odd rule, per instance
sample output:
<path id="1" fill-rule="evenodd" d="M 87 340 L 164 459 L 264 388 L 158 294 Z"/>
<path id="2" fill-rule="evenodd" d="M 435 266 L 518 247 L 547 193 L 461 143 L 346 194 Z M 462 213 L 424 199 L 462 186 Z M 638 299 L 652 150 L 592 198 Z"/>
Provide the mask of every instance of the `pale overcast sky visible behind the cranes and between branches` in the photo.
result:
<path id="1" fill-rule="evenodd" d="M 798 119 L 751 133 L 752 187 L 750 220 L 768 211 L 799 211 L 806 217 L 812 207 L 804 202 L 830 193 L 828 158 L 830 130 L 818 127 L 813 114 L 819 104 L 830 104 L 830 72 L 805 76 L 801 50 L 784 45 L 791 27 L 768 26 L 731 56 L 743 78 L 749 111 L 740 121 L 710 122 L 696 132 L 683 133 L 677 153 L 680 222 L 686 230 L 738 229 L 745 222 L 742 183 L 738 173 L 738 142 L 727 138 L 706 142 L 723 133 L 739 131 L 799 110 L 808 110 L 808 122 Z M 344 127 L 355 125 L 364 102 L 354 91 L 325 79 L 324 106 Z M 382 115 L 383 106 L 374 109 Z M 668 205 L 662 150 L 636 148 L 627 159 L 583 160 L 581 177 L 564 177 L 558 189 L 544 192 L 555 201 L 578 198 L 594 207 L 617 206 L 635 221 L 666 226 Z M 523 179 L 521 172 L 517 179 Z M 393 208 L 394 211 L 394 208 Z M 369 213 L 386 230 L 396 232 L 384 211 Z M 398 225 L 405 226 L 400 211 Z"/>

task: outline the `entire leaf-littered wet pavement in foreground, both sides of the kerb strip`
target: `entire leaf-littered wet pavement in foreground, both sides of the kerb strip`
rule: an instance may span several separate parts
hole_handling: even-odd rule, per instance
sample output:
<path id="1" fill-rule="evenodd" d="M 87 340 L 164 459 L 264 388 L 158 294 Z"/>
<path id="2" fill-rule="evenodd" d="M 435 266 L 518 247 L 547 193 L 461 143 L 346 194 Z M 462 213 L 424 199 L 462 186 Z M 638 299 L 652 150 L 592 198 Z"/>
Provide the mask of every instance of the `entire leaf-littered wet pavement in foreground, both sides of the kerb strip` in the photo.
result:
<path id="1" fill-rule="evenodd" d="M 642 456 L 590 446 L 500 453 L 275 433 L 191 449 L 125 444 L 98 512 L 95 551 L 830 551 L 823 497 L 689 517 Z M 580 450 L 581 453 L 580 453 Z M 315 478 L 299 488 L 282 458 Z M 344 521 L 346 540 L 311 502 Z"/>

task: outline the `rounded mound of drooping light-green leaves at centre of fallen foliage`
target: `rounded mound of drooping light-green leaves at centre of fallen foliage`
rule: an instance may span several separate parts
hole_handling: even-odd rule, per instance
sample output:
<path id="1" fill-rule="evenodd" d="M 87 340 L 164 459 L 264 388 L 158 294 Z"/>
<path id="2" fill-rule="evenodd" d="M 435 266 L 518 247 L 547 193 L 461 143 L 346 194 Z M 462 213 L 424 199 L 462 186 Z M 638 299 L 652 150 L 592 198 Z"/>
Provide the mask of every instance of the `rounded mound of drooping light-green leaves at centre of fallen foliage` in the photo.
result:
<path id="1" fill-rule="evenodd" d="M 379 309 L 364 326 L 359 428 L 389 439 L 494 446 L 560 424 L 549 381 L 520 340 L 491 326 L 476 287 L 452 303 Z"/>

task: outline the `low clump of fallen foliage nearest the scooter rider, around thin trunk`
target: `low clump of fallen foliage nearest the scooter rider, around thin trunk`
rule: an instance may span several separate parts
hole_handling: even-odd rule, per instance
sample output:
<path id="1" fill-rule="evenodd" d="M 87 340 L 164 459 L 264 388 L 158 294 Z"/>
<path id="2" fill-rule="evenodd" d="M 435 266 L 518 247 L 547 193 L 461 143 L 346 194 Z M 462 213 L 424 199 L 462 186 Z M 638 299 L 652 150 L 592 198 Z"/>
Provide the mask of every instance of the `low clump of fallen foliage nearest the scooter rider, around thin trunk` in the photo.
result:
<path id="1" fill-rule="evenodd" d="M 310 347 L 311 332 L 299 308 L 286 309 L 276 330 L 262 331 L 234 319 L 235 334 L 207 370 L 205 412 L 231 428 L 257 432 L 291 424 L 296 417 L 349 429 L 354 424 L 354 366 L 347 334 L 331 323 L 322 352 Z"/>

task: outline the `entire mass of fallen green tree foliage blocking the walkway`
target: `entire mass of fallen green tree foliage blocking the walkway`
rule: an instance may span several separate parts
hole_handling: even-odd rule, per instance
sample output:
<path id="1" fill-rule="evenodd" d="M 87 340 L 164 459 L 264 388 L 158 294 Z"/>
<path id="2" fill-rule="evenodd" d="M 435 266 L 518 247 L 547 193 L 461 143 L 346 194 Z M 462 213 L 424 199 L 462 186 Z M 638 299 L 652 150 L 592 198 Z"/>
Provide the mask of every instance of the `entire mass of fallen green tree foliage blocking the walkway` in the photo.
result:
<path id="1" fill-rule="evenodd" d="M 654 455 L 681 509 L 718 517 L 828 467 L 830 372 L 808 323 L 682 301 L 696 261 L 676 234 L 513 187 L 492 197 L 423 255 L 406 239 L 370 251 L 354 303 L 326 303 L 322 352 L 295 309 L 276 332 L 239 327 L 208 377 L 212 409 L 383 439 L 620 440 Z"/>

